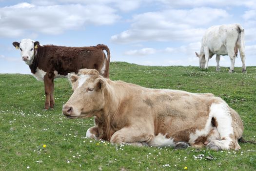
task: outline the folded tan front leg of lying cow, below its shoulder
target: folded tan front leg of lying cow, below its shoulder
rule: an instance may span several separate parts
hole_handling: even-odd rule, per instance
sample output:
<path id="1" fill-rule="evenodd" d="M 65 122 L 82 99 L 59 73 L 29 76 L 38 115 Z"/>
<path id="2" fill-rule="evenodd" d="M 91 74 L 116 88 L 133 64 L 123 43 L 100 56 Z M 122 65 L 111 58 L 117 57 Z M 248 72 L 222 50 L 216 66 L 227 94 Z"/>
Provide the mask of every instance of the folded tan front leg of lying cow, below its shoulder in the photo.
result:
<path id="1" fill-rule="evenodd" d="M 154 134 L 145 128 L 124 127 L 116 131 L 110 141 L 117 144 L 131 143 L 131 145 L 137 145 L 138 143 L 149 142 L 153 136 Z"/>

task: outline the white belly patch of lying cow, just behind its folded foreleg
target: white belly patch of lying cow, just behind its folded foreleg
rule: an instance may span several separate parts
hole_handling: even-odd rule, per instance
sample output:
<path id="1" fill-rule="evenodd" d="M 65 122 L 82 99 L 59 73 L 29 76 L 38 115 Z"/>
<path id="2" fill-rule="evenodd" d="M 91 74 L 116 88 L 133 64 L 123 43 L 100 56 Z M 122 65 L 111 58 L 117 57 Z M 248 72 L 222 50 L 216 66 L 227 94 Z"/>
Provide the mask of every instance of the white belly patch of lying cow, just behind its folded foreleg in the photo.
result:
<path id="1" fill-rule="evenodd" d="M 157 136 L 155 136 L 149 143 L 150 146 L 171 146 L 175 147 L 175 142 L 173 141 L 173 138 L 166 138 L 166 135 L 163 135 L 161 133 L 158 133 Z"/>

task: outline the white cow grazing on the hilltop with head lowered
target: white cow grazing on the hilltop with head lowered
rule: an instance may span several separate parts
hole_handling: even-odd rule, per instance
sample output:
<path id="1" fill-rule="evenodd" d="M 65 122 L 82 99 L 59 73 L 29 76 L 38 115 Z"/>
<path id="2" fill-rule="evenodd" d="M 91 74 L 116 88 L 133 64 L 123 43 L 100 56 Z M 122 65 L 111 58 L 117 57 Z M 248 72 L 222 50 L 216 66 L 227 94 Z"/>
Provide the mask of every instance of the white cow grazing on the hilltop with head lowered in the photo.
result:
<path id="1" fill-rule="evenodd" d="M 199 58 L 200 68 L 208 68 L 209 59 L 216 54 L 217 67 L 219 68 L 220 55 L 228 55 L 231 65 L 229 72 L 234 71 L 235 59 L 239 49 L 243 63 L 242 72 L 246 72 L 244 53 L 244 29 L 240 24 L 215 25 L 208 28 L 203 35 Z"/>

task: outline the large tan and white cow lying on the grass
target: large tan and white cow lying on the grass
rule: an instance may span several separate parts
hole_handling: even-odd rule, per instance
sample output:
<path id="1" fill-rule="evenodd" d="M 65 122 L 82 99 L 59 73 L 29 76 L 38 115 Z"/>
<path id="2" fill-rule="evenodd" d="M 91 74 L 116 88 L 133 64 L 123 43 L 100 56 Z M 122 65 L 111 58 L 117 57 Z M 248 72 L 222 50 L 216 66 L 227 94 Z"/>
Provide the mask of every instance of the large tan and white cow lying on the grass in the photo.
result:
<path id="1" fill-rule="evenodd" d="M 62 111 L 72 119 L 94 116 L 95 126 L 87 130 L 87 137 L 118 144 L 240 149 L 242 121 L 213 94 L 111 81 L 95 69 L 81 69 L 69 78 L 74 93 Z"/>

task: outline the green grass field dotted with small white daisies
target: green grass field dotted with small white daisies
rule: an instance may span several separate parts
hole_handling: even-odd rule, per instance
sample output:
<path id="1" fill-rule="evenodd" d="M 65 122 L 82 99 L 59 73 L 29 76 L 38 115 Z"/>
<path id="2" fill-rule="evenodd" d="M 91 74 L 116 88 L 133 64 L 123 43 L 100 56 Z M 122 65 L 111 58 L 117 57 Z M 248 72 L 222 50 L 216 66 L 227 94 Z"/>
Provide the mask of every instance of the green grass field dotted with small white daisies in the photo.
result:
<path id="1" fill-rule="evenodd" d="M 29 68 L 28 68 L 29 69 Z M 222 67 L 141 66 L 111 63 L 110 79 L 150 88 L 213 93 L 241 116 L 243 137 L 256 140 L 256 66 L 228 73 Z M 93 118 L 71 120 L 62 105 L 72 89 L 67 79 L 55 80 L 53 110 L 43 111 L 43 83 L 32 75 L 0 74 L 0 171 L 253 171 L 256 145 L 241 150 L 174 150 L 132 147 L 85 138 Z M 46 145 L 46 146 L 43 146 Z"/>

